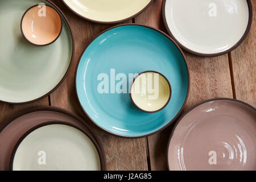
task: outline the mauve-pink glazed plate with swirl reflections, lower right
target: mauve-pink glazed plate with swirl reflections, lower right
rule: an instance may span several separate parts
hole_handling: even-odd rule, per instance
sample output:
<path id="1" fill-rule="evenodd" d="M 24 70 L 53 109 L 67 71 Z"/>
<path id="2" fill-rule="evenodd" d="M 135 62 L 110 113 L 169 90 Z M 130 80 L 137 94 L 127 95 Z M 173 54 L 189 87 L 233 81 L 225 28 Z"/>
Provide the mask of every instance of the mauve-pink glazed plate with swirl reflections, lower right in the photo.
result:
<path id="1" fill-rule="evenodd" d="M 218 99 L 177 122 L 168 145 L 171 170 L 256 170 L 256 109 Z"/>

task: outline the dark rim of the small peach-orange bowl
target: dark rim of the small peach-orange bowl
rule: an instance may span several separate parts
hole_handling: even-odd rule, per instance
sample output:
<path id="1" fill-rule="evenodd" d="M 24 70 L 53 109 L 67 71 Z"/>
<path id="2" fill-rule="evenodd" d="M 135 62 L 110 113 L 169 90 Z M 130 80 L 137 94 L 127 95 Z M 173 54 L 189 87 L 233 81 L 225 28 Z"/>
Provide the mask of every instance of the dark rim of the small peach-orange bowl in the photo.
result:
<path id="1" fill-rule="evenodd" d="M 49 43 L 46 43 L 46 44 L 36 44 L 36 43 L 31 42 L 31 41 L 28 40 L 27 37 L 25 36 L 24 31 L 23 31 L 23 28 L 22 28 L 22 24 L 23 24 L 24 16 L 28 13 L 28 11 L 30 11 L 31 9 L 33 9 L 33 8 L 36 7 L 36 6 L 38 6 L 38 5 L 34 5 L 34 6 L 29 7 L 29 8 L 25 11 L 25 13 L 22 15 L 22 18 L 20 19 L 20 31 L 22 32 L 22 35 L 23 35 L 23 37 L 27 40 L 27 42 L 33 44 L 34 46 L 39 46 L 39 47 L 40 47 L 40 46 L 48 46 L 48 45 L 54 43 L 57 39 L 59 39 L 59 37 L 60 37 L 60 35 L 61 35 L 61 32 L 62 32 L 62 30 L 63 30 L 63 21 L 62 21 L 62 18 L 61 18 L 61 15 L 60 15 L 59 11 L 57 11 L 57 10 L 56 10 L 54 7 L 52 7 L 52 6 L 46 5 L 46 6 L 48 6 L 49 8 L 51 8 L 52 10 L 54 10 L 54 11 L 59 15 L 59 18 L 60 18 L 60 32 L 59 32 L 59 34 L 56 36 L 56 38 L 55 38 L 54 40 L 52 40 L 51 42 L 49 42 Z"/>

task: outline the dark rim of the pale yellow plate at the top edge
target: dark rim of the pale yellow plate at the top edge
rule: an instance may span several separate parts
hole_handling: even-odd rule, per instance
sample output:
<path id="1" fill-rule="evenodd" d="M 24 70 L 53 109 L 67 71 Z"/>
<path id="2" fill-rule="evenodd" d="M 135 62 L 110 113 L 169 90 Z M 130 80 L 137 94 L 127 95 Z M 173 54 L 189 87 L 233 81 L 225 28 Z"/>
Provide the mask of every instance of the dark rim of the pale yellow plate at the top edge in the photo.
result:
<path id="1" fill-rule="evenodd" d="M 102 23 L 102 24 L 104 24 L 104 23 L 105 23 L 105 24 L 121 23 L 121 22 L 125 22 L 126 20 L 132 19 L 132 18 L 134 18 L 135 16 L 138 16 L 139 14 L 143 13 L 143 11 L 145 11 L 154 1 L 155 1 L 155 0 L 150 0 L 150 2 L 147 4 L 147 6 L 145 6 L 141 11 L 139 11 L 138 13 L 136 13 L 136 14 L 130 16 L 129 18 L 125 18 L 125 19 L 121 19 L 121 20 L 116 20 L 116 21 L 111 21 L 111 22 L 110 22 L 110 21 L 108 21 L 108 22 L 105 21 L 105 22 L 104 22 L 104 21 L 99 21 L 99 20 L 94 20 L 94 19 L 86 18 L 85 16 L 82 16 L 82 15 L 80 15 L 79 13 L 76 13 L 75 10 L 73 10 L 71 7 L 69 7 L 69 6 L 67 5 L 67 3 L 66 3 L 64 0 L 62 0 L 62 2 L 65 4 L 65 6 L 67 6 L 69 10 L 71 10 L 74 14 L 76 14 L 76 15 L 79 16 L 80 18 L 83 18 L 83 19 L 88 20 L 88 21 L 90 21 L 90 22 Z"/>

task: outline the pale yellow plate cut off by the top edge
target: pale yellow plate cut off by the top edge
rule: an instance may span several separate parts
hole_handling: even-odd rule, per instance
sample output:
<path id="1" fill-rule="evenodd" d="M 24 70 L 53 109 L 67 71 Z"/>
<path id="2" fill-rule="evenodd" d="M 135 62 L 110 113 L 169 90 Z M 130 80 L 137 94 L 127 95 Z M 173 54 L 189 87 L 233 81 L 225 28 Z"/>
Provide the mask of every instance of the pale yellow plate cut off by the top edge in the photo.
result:
<path id="1" fill-rule="evenodd" d="M 82 18 L 98 23 L 117 23 L 141 13 L 152 0 L 63 0 L 63 2 Z"/>

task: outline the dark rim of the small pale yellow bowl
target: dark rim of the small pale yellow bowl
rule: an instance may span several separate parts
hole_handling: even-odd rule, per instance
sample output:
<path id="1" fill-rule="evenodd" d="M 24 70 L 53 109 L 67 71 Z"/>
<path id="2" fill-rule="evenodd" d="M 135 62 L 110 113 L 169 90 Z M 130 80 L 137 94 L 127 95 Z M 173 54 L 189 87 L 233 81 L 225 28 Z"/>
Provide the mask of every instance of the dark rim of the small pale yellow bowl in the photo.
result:
<path id="1" fill-rule="evenodd" d="M 142 109 L 141 107 L 139 107 L 139 106 L 135 103 L 135 101 L 133 100 L 133 96 L 132 96 L 131 90 L 132 90 L 132 88 L 133 88 L 134 82 L 135 82 L 135 80 L 136 80 L 140 75 L 142 75 L 142 74 L 144 74 L 144 73 L 157 73 L 157 74 L 159 74 L 160 76 L 162 76 L 162 77 L 167 81 L 167 83 L 168 83 L 168 86 L 169 86 L 169 89 L 170 89 L 169 98 L 168 98 L 166 104 L 164 104 L 164 106 L 161 107 L 160 109 L 157 109 L 157 110 L 154 110 L 154 111 L 144 110 L 144 109 Z M 135 76 L 135 78 L 133 79 L 133 82 L 131 83 L 131 86 L 130 86 L 130 93 L 129 93 L 129 95 L 130 95 L 130 98 L 131 98 L 131 102 L 133 102 L 133 104 L 134 104 L 139 110 L 141 110 L 141 111 L 143 111 L 143 112 L 145 112 L 145 113 L 157 113 L 157 112 L 159 112 L 160 110 L 163 110 L 163 109 L 169 104 L 169 102 L 170 102 L 170 100 L 171 100 L 171 96 L 172 96 L 172 88 L 171 88 L 170 81 L 169 81 L 169 80 L 167 79 L 167 77 L 164 76 L 162 73 L 157 72 L 157 71 L 144 71 L 144 72 L 139 73 L 139 74 L 138 74 L 137 76 Z"/>

